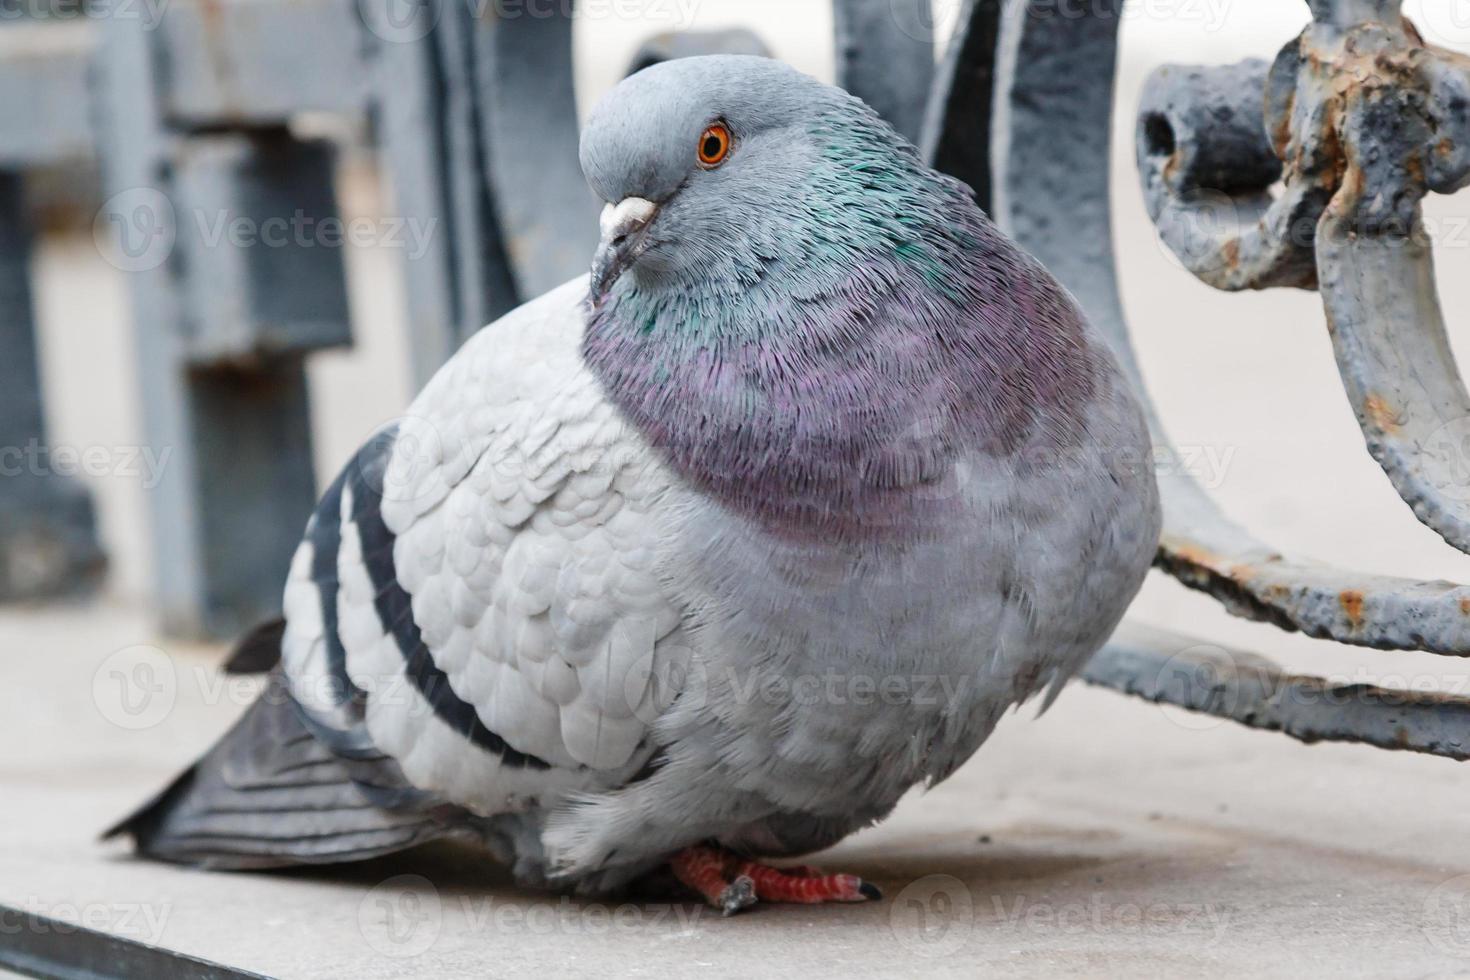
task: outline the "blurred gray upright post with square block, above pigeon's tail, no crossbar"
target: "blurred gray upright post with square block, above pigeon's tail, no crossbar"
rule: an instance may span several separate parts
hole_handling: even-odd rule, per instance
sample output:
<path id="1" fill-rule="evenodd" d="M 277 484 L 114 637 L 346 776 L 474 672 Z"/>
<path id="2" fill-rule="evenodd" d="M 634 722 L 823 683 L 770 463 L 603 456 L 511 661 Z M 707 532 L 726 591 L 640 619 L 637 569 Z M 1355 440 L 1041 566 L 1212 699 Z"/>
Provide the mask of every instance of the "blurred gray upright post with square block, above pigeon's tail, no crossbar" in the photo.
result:
<path id="1" fill-rule="evenodd" d="M 329 190 L 310 187 L 323 167 L 279 125 L 234 137 L 172 128 L 166 35 L 129 21 L 100 29 L 103 220 L 129 279 L 147 439 L 172 453 L 148 494 L 156 601 L 171 632 L 238 633 L 278 613 L 316 498 L 301 354 L 323 341 L 322 320 L 297 314 L 325 298 L 331 319 L 345 304 L 340 253 L 203 237 L 237 217 L 254 229 L 290 220 L 278 212 L 293 206 L 323 217 Z M 282 275 L 295 263 L 307 282 Z M 301 323 L 307 335 L 282 334 Z"/>

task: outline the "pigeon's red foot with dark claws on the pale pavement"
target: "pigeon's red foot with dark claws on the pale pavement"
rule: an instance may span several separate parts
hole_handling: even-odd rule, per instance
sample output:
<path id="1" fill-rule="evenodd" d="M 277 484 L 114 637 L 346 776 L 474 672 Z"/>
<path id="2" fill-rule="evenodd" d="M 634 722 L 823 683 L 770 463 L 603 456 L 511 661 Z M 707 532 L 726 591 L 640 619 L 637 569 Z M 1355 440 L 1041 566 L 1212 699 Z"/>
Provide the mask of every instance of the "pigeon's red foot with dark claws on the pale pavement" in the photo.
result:
<path id="1" fill-rule="evenodd" d="M 675 877 L 714 908 L 734 915 L 763 902 L 866 902 L 882 898 L 856 874 L 822 874 L 813 867 L 773 868 L 711 846 L 685 848 L 669 862 Z"/>

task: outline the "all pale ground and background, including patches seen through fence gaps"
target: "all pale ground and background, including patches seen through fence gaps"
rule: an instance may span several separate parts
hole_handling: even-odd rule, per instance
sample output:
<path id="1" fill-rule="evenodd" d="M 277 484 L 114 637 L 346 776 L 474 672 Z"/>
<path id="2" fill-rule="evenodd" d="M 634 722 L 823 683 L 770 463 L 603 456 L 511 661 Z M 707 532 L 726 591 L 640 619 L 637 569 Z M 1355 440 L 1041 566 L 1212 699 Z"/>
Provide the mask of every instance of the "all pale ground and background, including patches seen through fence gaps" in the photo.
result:
<path id="1" fill-rule="evenodd" d="M 1305 6 L 1132 6 L 1114 238 L 1144 370 L 1176 442 L 1233 517 L 1289 554 L 1470 579 L 1466 557 L 1416 523 L 1364 453 L 1317 297 L 1214 292 L 1164 254 L 1142 212 L 1126 120 L 1147 71 L 1270 57 Z M 826 0 L 695 9 L 700 26 L 769 21 L 779 54 L 831 71 L 810 43 L 829 29 L 817 13 Z M 1407 9 L 1423 9 L 1441 43 L 1466 28 L 1445 15 L 1448 0 Z M 616 76 L 644 26 L 584 25 L 584 100 Z M 341 188 L 348 215 L 385 207 L 360 163 Z M 1432 201 L 1432 217 L 1460 328 L 1470 201 Z M 354 248 L 345 259 L 356 344 L 312 363 L 323 478 L 412 394 L 400 257 Z M 54 441 L 146 445 L 126 282 L 85 235 L 43 242 L 37 273 Z M 1464 338 L 1452 339 L 1463 348 Z M 720 920 L 692 905 L 563 904 L 445 849 L 290 874 L 137 862 L 96 843 L 97 832 L 193 760 L 251 693 L 213 673 L 219 648 L 160 638 L 147 617 L 146 478 L 90 479 L 113 570 L 101 599 L 0 611 L 0 905 L 281 977 L 1470 976 L 1463 765 L 1308 748 L 1086 688 L 1039 720 L 1029 708 L 1010 718 L 948 783 L 820 857 L 876 880 L 885 899 L 875 905 Z M 1289 636 L 1163 577 L 1135 614 L 1304 671 L 1470 691 L 1463 661 Z M 0 920 L 0 945 L 4 929 Z"/>

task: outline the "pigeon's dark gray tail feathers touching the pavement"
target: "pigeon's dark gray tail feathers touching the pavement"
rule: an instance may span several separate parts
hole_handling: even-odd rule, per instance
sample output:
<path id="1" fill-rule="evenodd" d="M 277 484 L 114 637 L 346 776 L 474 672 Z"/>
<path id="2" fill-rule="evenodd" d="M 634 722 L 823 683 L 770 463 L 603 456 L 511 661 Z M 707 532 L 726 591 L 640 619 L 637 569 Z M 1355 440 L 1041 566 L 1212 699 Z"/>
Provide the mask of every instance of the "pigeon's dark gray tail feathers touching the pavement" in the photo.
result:
<path id="1" fill-rule="evenodd" d="M 131 835 L 162 861 L 244 870 L 357 861 L 451 833 L 451 813 L 375 805 L 401 796 L 392 761 L 332 755 L 282 693 L 272 683 L 198 763 L 103 836 Z"/>

